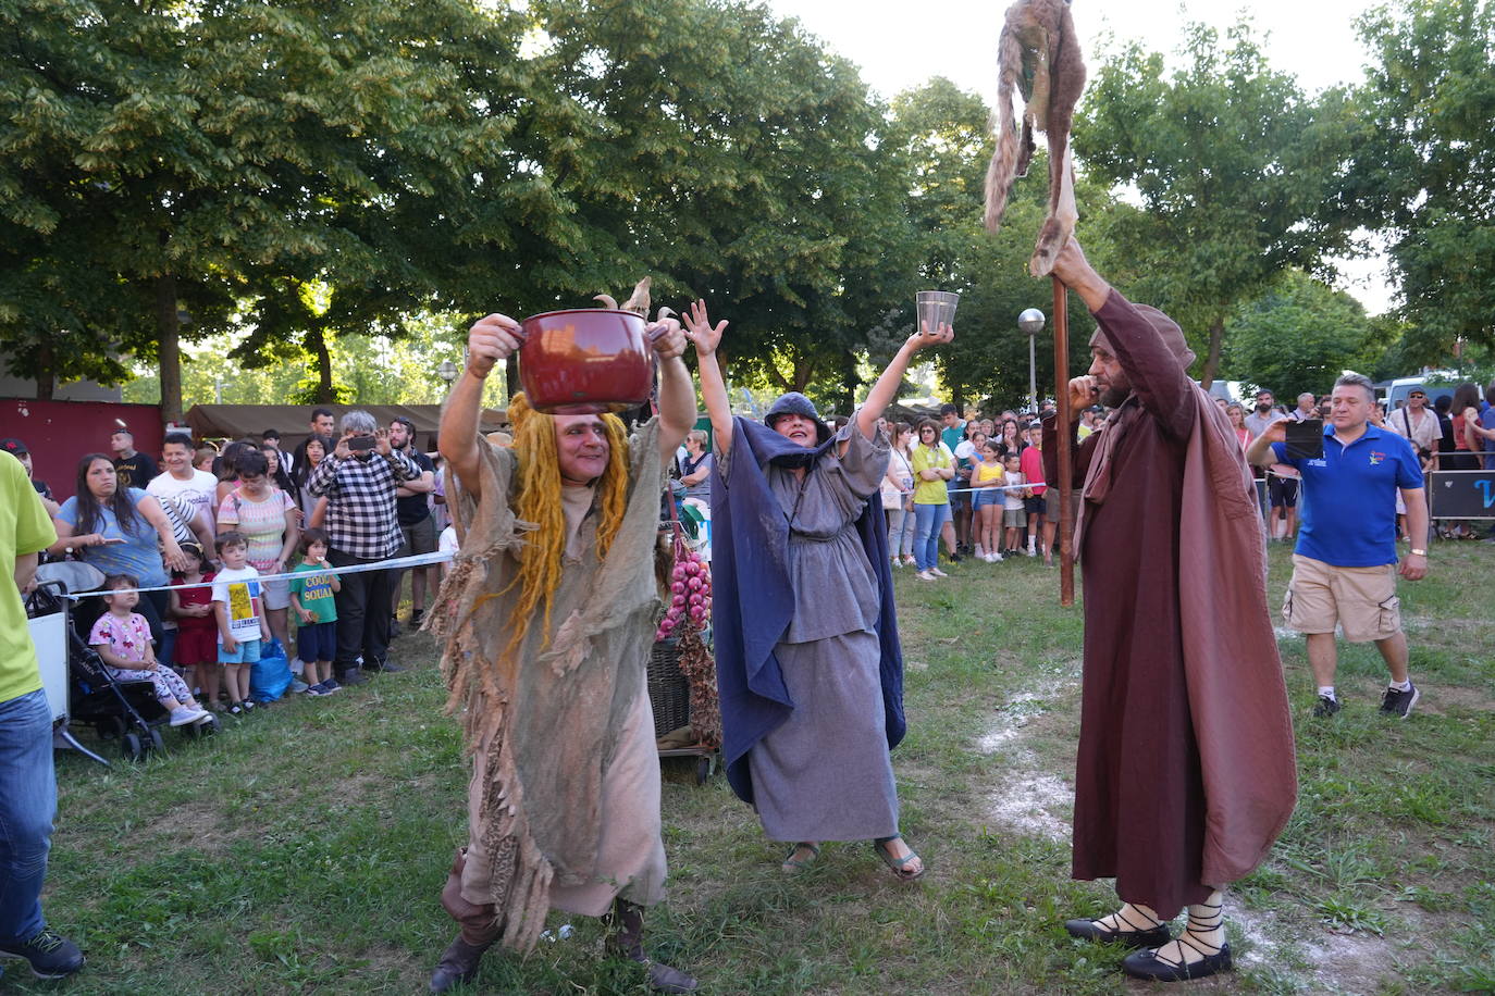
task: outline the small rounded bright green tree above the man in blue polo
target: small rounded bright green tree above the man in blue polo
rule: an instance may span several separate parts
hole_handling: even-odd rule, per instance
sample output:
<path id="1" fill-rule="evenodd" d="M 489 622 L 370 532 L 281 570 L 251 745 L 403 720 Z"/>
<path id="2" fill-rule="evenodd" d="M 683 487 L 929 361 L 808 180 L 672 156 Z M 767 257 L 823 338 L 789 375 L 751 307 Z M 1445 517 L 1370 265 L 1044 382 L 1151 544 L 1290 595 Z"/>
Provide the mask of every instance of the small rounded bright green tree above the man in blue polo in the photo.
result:
<path id="1" fill-rule="evenodd" d="M 1357 300 L 1302 270 L 1287 270 L 1226 324 L 1223 370 L 1281 399 L 1326 394 L 1346 369 L 1363 369 L 1372 326 Z"/>

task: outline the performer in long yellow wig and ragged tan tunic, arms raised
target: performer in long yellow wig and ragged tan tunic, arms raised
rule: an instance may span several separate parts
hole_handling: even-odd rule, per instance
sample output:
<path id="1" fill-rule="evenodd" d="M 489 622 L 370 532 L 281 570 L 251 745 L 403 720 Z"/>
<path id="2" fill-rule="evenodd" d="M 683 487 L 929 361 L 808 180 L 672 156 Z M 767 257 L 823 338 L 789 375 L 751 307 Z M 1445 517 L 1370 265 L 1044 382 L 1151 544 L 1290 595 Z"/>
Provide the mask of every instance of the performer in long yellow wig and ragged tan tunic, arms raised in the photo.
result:
<path id="1" fill-rule="evenodd" d="M 665 877 L 644 670 L 659 497 L 695 421 L 685 336 L 670 321 L 653 340 L 659 415 L 632 438 L 614 415 L 546 415 L 520 394 L 513 446 L 493 446 L 478 436 L 483 382 L 520 337 L 505 315 L 472 326 L 441 418 L 460 553 L 428 626 L 446 639 L 474 771 L 468 847 L 441 893 L 462 933 L 431 989 L 471 981 L 498 941 L 531 950 L 564 909 L 605 915 L 608 953 L 647 965 L 656 992 L 694 992 L 640 939 Z"/>

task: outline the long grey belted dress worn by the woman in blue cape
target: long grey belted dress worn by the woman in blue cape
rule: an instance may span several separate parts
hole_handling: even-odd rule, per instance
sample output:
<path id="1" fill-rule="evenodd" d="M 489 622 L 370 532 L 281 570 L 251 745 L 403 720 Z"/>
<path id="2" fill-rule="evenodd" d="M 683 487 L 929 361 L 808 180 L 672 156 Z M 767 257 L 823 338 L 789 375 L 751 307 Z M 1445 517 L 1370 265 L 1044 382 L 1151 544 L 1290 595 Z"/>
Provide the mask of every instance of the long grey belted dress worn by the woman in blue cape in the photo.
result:
<path id="1" fill-rule="evenodd" d="M 827 452 L 803 493 L 792 470 L 767 467 L 791 517 L 794 617 L 773 653 L 794 712 L 752 748 L 748 765 L 758 817 L 774 841 L 898 832 L 873 630 L 878 579 L 857 536 L 857 518 L 888 469 L 888 443 L 881 433 L 863 436 L 855 421 L 842 429 L 839 439 L 848 438 L 846 454 Z"/>

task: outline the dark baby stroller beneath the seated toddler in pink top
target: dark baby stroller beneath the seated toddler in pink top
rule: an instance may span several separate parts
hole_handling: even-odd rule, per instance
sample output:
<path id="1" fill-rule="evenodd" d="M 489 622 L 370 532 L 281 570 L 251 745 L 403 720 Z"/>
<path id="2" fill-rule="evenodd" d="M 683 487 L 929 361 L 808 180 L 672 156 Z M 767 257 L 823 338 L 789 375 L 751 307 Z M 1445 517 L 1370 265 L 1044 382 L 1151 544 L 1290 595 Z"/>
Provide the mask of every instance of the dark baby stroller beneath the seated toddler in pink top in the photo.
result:
<path id="1" fill-rule="evenodd" d="M 42 564 L 36 569 L 36 591 L 27 600 L 27 615 L 33 618 L 61 614 L 66 644 L 67 684 L 57 720 L 57 735 L 75 750 L 108 763 L 84 747 L 67 730 L 69 724 L 91 726 L 102 739 L 118 738 L 121 753 L 129 760 L 141 760 L 151 751 L 166 748 L 157 729 L 169 718 L 166 706 L 155 699 L 150 681 L 120 681 L 109 673 L 103 660 L 78 632 L 72 618 L 69 591 L 93 591 L 103 584 L 97 567 L 81 561 Z M 54 651 L 55 653 L 55 651 Z M 39 648 L 40 657 L 40 648 Z M 40 662 L 43 678 L 61 662 Z M 54 714 L 57 706 L 54 706 Z M 181 727 L 184 736 L 211 736 L 218 732 L 218 717 Z"/>

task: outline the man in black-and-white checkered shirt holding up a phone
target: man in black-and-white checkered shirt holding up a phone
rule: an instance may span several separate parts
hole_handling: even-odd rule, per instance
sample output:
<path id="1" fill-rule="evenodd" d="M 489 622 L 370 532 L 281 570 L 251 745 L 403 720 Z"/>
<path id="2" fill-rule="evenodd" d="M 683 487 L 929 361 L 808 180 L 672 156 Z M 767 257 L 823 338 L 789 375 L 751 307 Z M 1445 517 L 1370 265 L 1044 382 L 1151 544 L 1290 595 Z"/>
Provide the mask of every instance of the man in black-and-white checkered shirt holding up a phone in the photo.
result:
<path id="1" fill-rule="evenodd" d="M 317 464 L 306 488 L 327 497 L 323 527 L 332 541 L 327 563 L 333 567 L 377 563 L 399 550 L 395 488 L 414 481 L 420 467 L 389 443 L 389 432 L 374 417 L 351 411 L 342 417 L 338 448 Z M 363 670 L 404 670 L 389 660 L 389 570 L 342 575 L 336 594 L 338 656 L 332 670 L 341 684 L 363 681 Z"/>

